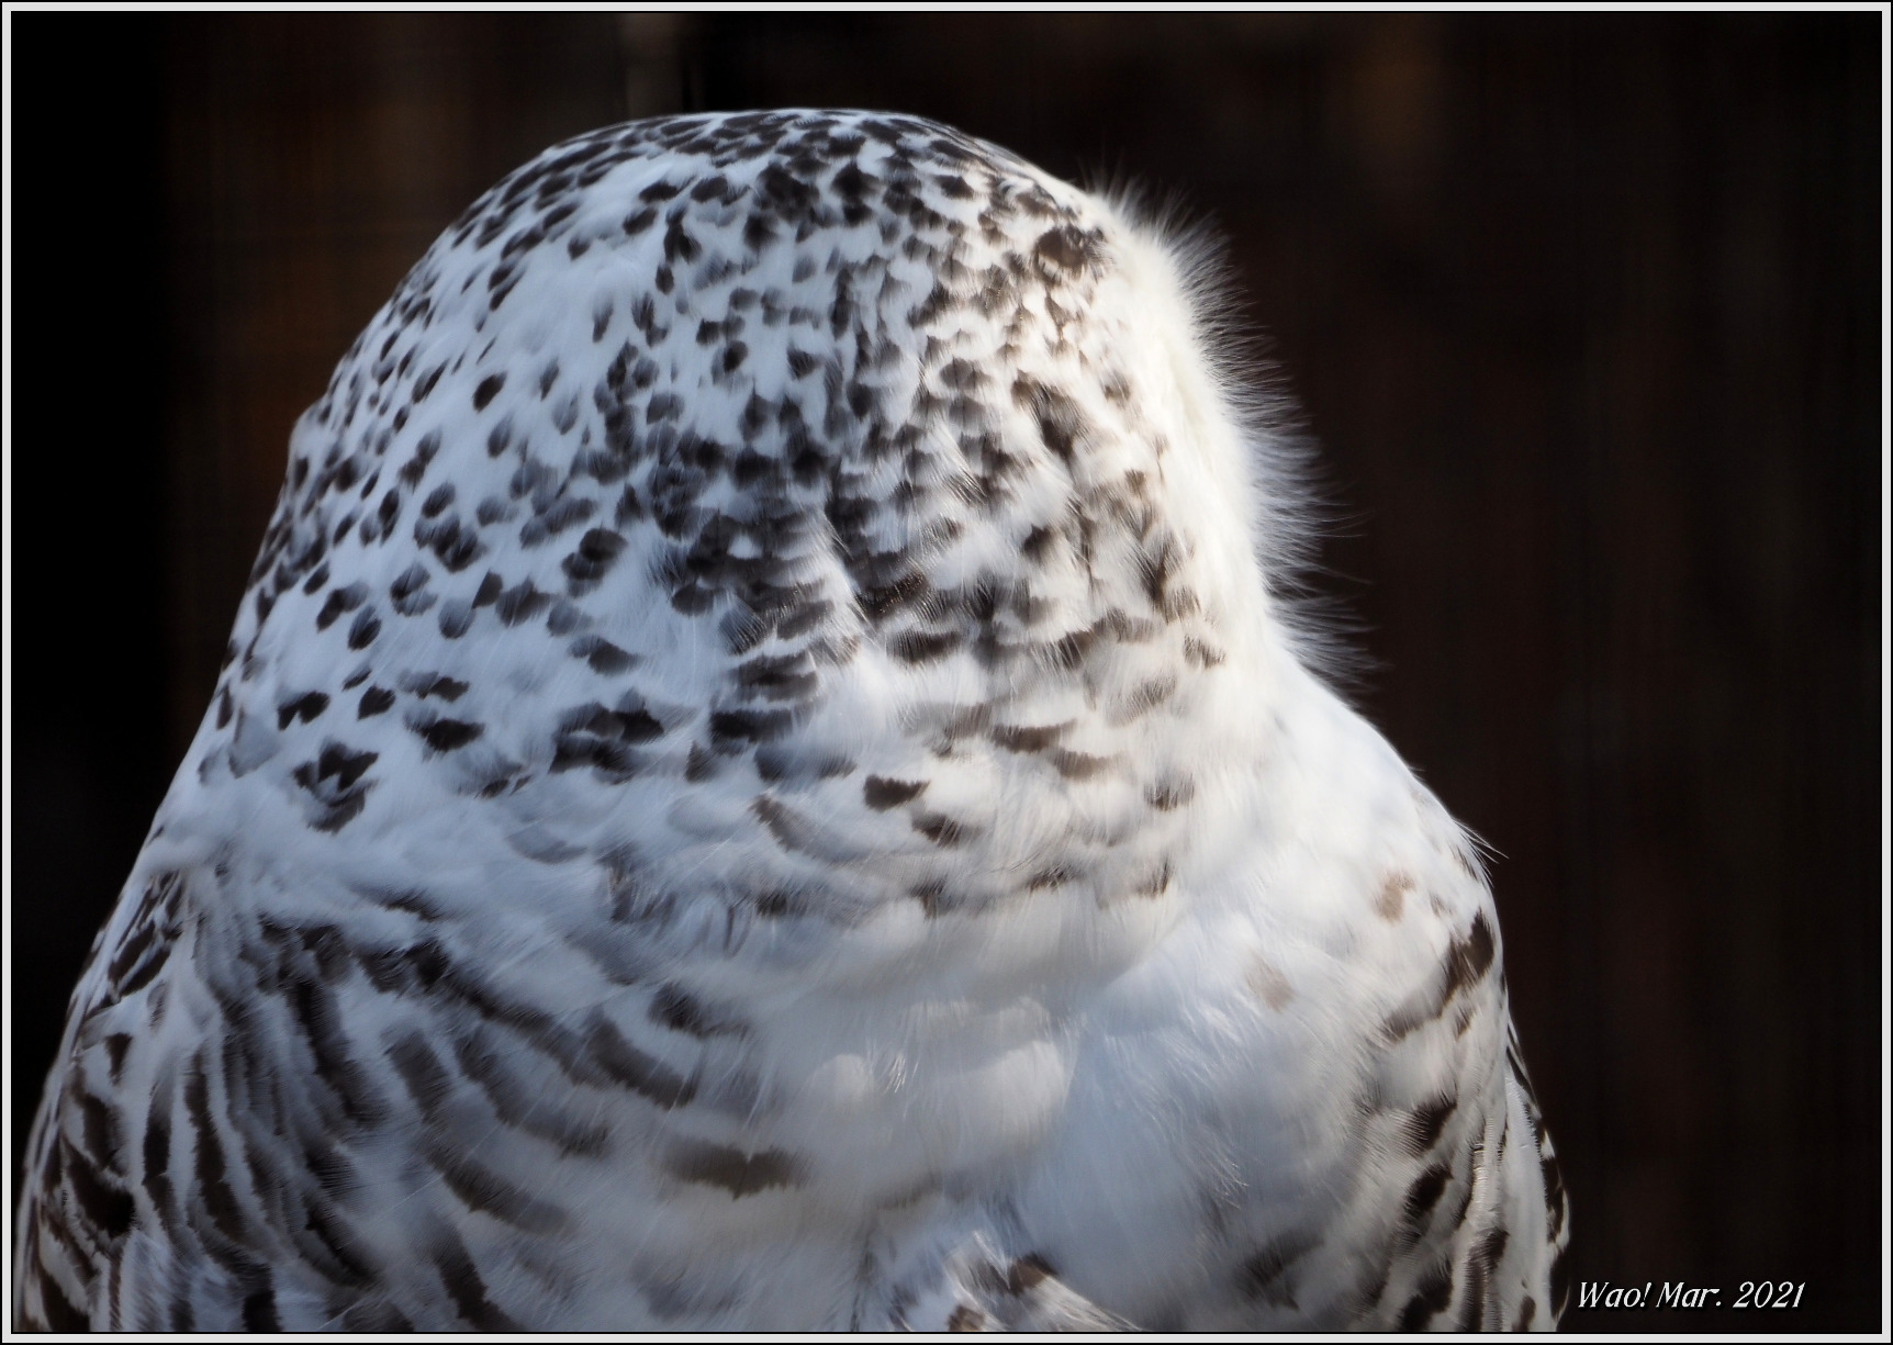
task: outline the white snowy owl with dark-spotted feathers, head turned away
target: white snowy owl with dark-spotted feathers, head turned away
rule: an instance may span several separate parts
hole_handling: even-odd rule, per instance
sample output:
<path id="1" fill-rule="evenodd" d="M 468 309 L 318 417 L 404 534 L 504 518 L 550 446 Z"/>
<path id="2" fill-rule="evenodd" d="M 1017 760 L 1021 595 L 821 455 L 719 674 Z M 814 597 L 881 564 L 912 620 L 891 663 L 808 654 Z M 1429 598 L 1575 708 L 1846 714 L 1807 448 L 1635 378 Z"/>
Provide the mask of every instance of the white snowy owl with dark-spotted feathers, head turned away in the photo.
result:
<path id="1" fill-rule="evenodd" d="M 290 439 L 15 1322 L 1554 1324 L 1492 895 L 1187 253 L 859 112 L 481 197 Z"/>

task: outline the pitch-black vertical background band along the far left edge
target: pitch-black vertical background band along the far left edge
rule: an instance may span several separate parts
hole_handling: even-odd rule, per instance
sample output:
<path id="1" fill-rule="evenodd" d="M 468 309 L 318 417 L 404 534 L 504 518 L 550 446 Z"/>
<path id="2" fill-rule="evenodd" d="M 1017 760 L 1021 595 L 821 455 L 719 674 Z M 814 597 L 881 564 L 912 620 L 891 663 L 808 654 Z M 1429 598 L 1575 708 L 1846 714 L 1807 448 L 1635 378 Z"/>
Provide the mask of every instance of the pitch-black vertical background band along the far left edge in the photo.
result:
<path id="1" fill-rule="evenodd" d="M 80 42 L 104 26 L 68 25 Z M 13 1173 L 80 963 L 182 751 L 165 723 L 170 231 L 151 115 L 165 81 L 148 57 L 161 28 L 112 26 L 85 83 L 144 115 L 100 125 L 72 83 L 34 98 L 19 76 L 11 108 Z"/>

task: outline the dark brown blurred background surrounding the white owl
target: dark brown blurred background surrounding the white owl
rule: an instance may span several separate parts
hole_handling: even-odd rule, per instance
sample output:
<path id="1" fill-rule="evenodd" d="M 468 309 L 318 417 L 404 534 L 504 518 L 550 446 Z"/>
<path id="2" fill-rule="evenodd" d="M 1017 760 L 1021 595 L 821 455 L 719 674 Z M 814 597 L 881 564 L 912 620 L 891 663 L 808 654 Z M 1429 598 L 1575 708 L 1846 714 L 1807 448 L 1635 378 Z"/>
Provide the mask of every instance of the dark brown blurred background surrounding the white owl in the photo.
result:
<path id="1" fill-rule="evenodd" d="M 13 1171 L 288 431 L 564 136 L 914 112 L 1229 238 L 1353 700 L 1499 853 L 1573 1281 L 1880 1330 L 1882 17 L 13 15 Z"/>

